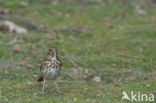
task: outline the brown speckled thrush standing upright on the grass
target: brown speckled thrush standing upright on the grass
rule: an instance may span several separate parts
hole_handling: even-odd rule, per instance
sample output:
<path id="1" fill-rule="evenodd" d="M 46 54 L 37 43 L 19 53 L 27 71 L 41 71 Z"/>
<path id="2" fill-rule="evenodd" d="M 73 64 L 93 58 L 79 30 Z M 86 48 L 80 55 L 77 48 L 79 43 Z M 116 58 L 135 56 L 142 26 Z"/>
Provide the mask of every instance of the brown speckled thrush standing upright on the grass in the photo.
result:
<path id="1" fill-rule="evenodd" d="M 57 86 L 56 79 L 60 75 L 62 62 L 58 57 L 57 47 L 50 47 L 47 56 L 44 58 L 40 66 L 40 76 L 38 82 L 43 81 L 42 93 L 44 93 L 46 81 L 54 81 L 57 92 L 59 88 Z"/>

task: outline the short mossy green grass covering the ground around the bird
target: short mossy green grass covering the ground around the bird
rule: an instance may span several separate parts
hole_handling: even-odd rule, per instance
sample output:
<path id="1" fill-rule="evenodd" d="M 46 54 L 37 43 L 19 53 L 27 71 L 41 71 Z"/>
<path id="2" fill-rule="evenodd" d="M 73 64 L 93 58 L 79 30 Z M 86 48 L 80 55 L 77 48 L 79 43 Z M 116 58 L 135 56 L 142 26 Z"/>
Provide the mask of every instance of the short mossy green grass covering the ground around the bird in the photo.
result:
<path id="1" fill-rule="evenodd" d="M 136 13 L 136 5 L 147 14 Z M 120 103 L 122 91 L 156 94 L 154 6 L 121 3 L 80 6 L 63 2 L 32 3 L 11 9 L 11 16 L 33 20 L 49 29 L 75 27 L 84 32 L 59 31 L 58 38 L 51 32 L 33 30 L 27 35 L 1 32 L 1 101 Z M 63 61 L 58 78 L 62 95 L 57 95 L 54 87 L 42 95 L 42 83 L 36 81 L 40 63 L 51 46 L 59 48 Z M 77 72 L 67 57 L 79 65 Z M 100 83 L 92 80 L 95 76 L 101 78 Z"/>

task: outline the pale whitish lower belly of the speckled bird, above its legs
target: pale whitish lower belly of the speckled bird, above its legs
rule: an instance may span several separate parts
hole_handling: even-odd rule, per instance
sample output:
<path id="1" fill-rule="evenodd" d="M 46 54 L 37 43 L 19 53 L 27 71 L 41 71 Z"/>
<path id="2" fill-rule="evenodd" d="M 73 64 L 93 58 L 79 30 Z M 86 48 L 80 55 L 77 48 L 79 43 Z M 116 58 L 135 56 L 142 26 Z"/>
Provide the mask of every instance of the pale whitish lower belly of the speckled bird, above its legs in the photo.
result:
<path id="1" fill-rule="evenodd" d="M 60 74 L 60 70 L 48 68 L 44 71 L 44 79 L 55 80 Z"/>

